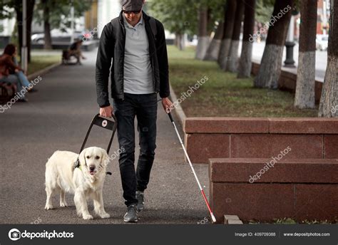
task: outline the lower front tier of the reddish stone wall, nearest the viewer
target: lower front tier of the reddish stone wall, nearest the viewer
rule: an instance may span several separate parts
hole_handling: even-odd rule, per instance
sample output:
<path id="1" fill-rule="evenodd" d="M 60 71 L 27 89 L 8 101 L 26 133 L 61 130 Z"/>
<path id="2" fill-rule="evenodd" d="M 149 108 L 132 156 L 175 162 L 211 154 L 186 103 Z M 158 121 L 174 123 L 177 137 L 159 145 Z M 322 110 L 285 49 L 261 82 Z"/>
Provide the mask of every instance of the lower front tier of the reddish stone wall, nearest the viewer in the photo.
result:
<path id="1" fill-rule="evenodd" d="M 281 160 L 260 179 L 250 177 L 269 159 L 210 159 L 210 205 L 218 223 L 224 214 L 242 221 L 338 219 L 338 160 Z"/>

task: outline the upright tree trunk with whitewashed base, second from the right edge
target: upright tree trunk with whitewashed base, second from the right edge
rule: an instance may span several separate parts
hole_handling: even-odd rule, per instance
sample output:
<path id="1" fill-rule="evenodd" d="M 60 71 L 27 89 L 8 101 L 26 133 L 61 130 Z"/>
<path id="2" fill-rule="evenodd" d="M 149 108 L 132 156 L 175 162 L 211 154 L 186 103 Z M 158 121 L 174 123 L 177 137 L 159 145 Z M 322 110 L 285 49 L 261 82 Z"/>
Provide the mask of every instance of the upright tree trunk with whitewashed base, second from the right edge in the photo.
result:
<path id="1" fill-rule="evenodd" d="M 301 1 L 295 107 L 314 108 L 317 0 Z"/>

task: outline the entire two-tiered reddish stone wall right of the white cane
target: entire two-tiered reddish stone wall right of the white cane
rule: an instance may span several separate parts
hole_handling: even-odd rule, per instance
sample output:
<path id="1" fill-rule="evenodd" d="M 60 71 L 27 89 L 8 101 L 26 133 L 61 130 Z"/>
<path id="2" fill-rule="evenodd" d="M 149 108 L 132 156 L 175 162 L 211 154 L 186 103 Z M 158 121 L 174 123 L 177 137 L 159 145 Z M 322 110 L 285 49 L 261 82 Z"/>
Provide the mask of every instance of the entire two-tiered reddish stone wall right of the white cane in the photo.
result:
<path id="1" fill-rule="evenodd" d="M 337 118 L 187 118 L 183 128 L 192 162 L 210 164 L 217 222 L 224 214 L 243 221 L 338 219 Z"/>

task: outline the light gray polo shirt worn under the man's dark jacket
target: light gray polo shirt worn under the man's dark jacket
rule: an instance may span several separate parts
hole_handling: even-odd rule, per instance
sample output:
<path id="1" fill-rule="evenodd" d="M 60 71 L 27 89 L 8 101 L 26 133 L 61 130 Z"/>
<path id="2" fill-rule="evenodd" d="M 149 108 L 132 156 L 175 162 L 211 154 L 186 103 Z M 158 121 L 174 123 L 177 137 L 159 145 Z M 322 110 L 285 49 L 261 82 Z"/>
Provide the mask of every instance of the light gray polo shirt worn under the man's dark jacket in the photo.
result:
<path id="1" fill-rule="evenodd" d="M 145 32 L 143 16 L 134 27 L 123 14 L 126 26 L 126 46 L 124 55 L 124 93 L 155 93 L 153 71 L 149 57 L 148 36 Z"/>

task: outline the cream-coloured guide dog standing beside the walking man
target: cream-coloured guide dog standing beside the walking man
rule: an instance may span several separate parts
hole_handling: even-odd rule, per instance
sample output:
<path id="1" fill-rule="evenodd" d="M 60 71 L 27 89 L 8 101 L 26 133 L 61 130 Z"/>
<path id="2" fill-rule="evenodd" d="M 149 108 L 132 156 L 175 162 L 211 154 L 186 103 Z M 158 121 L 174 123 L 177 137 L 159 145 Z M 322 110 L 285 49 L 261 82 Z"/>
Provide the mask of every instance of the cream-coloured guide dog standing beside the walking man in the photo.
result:
<path id="1" fill-rule="evenodd" d="M 76 160 L 79 167 L 75 167 Z M 93 219 L 88 212 L 87 199 L 91 197 L 98 217 L 109 218 L 103 207 L 102 189 L 109 157 L 100 147 L 88 147 L 80 155 L 74 152 L 56 151 L 46 163 L 46 207 L 53 209 L 51 197 L 60 192 L 60 207 L 67 207 L 65 193 L 74 195 L 76 212 L 83 219 Z"/>

